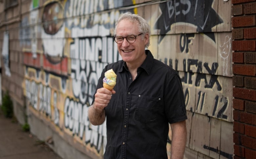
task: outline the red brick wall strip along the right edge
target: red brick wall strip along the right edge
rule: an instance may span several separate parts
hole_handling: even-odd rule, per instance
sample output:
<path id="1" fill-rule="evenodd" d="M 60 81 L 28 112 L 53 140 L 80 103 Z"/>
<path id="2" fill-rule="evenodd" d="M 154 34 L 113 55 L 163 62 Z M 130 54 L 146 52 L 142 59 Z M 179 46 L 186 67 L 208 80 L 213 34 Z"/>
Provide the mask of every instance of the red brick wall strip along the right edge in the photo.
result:
<path id="1" fill-rule="evenodd" d="M 256 156 L 256 1 L 232 0 L 234 159 Z"/>

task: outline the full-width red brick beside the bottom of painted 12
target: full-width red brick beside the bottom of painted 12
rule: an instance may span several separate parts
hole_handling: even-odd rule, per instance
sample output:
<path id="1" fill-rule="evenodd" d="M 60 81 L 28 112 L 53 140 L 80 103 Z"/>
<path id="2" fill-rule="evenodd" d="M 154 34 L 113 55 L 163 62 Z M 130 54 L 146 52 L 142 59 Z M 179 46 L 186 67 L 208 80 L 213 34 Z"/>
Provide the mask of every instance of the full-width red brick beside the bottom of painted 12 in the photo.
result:
<path id="1" fill-rule="evenodd" d="M 256 125 L 256 114 L 233 110 L 233 119 L 242 123 Z"/>

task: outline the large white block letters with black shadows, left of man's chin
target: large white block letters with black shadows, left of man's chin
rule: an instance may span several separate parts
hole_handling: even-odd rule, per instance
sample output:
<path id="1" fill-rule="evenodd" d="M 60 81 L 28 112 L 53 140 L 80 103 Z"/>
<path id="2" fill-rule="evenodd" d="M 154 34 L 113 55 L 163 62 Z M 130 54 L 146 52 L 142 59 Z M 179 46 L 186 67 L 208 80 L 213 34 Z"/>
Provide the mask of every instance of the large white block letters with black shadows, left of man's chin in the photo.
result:
<path id="1" fill-rule="evenodd" d="M 71 44 L 73 93 L 82 104 L 91 104 L 104 66 L 120 58 L 113 41 L 112 37 L 93 37 L 74 39 L 74 43 Z"/>

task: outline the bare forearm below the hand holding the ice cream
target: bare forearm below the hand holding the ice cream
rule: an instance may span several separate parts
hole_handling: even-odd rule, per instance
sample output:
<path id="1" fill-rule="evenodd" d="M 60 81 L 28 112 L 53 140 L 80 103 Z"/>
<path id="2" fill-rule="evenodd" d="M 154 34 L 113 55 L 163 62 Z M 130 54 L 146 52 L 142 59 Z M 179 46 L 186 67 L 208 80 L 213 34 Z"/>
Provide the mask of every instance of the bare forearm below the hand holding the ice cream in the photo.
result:
<path id="1" fill-rule="evenodd" d="M 105 110 L 98 110 L 94 105 L 88 109 L 88 118 L 93 125 L 101 125 L 105 121 Z"/>

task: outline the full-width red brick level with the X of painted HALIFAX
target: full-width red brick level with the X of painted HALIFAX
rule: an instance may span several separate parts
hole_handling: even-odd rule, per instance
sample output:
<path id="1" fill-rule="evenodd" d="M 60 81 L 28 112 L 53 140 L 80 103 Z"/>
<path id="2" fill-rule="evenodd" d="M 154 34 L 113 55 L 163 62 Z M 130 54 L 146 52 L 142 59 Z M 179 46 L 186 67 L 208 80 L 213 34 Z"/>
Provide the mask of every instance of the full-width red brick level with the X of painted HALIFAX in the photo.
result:
<path id="1" fill-rule="evenodd" d="M 256 75 L 256 66 L 255 65 L 233 64 L 233 73 L 240 74 L 240 75 L 255 76 Z"/>

